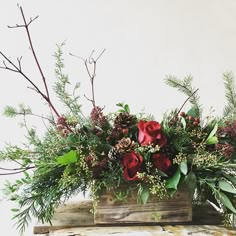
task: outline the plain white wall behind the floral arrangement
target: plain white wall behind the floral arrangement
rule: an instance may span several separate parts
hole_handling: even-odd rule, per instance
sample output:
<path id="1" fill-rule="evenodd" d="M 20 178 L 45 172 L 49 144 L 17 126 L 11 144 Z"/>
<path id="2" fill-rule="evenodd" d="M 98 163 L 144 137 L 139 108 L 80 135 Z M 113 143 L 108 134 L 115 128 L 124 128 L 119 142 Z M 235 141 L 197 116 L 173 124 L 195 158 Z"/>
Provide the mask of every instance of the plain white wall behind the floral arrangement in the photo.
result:
<path id="1" fill-rule="evenodd" d="M 93 49 L 98 55 L 106 48 L 98 62 L 95 81 L 96 100 L 105 106 L 105 112 L 115 111 L 115 104 L 124 101 L 133 112 L 145 108 L 160 119 L 167 109 L 180 107 L 186 99 L 165 85 L 165 76 L 183 78 L 192 74 L 206 113 L 210 106 L 217 115 L 222 113 L 225 104 L 222 73 L 228 70 L 236 73 L 235 0 L 0 0 L 0 3 L 0 51 L 12 59 L 23 56 L 24 71 L 42 85 L 24 29 L 7 28 L 22 23 L 17 3 L 23 6 L 27 18 L 39 15 L 30 30 L 48 83 L 53 84 L 54 80 L 55 45 L 66 40 L 67 72 L 73 82 L 81 82 L 86 112 L 91 108 L 83 98 L 84 93 L 90 95 L 89 79 L 83 63 L 69 56 L 69 52 L 87 57 Z M 6 105 L 21 102 L 30 105 L 35 113 L 43 113 L 44 102 L 27 89 L 28 84 L 17 74 L 0 70 L 0 81 L 1 112 Z M 5 142 L 23 141 L 24 133 L 17 119 L 1 116 L 0 130 L 0 147 Z M 0 212 L 0 229 L 8 230 L 4 235 L 18 235 L 12 229 L 9 204 L 0 202 Z"/>

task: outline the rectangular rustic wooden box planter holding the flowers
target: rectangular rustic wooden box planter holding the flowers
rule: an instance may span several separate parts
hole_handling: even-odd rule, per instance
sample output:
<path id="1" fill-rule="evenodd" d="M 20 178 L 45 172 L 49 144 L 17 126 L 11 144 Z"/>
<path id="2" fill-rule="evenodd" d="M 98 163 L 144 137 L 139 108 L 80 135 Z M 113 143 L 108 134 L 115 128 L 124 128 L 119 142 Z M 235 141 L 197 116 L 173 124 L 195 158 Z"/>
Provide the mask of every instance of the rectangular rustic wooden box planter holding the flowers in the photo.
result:
<path id="1" fill-rule="evenodd" d="M 117 201 L 112 193 L 99 196 L 95 224 L 180 223 L 192 221 L 192 201 L 186 188 L 177 191 L 168 200 L 150 199 L 146 204 L 137 203 L 137 195 L 126 201 Z"/>

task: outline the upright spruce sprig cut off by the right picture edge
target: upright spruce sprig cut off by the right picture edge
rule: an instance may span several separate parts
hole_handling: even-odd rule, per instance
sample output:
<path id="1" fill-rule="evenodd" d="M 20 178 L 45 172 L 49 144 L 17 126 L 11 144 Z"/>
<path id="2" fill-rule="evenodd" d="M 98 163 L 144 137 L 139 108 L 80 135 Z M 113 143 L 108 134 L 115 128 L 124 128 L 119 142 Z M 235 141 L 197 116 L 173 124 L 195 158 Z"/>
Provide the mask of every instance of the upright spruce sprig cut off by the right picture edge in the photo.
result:
<path id="1" fill-rule="evenodd" d="M 225 72 L 223 74 L 225 97 L 227 99 L 227 105 L 224 108 L 224 116 L 236 115 L 236 88 L 234 81 L 234 74 L 232 72 Z"/>

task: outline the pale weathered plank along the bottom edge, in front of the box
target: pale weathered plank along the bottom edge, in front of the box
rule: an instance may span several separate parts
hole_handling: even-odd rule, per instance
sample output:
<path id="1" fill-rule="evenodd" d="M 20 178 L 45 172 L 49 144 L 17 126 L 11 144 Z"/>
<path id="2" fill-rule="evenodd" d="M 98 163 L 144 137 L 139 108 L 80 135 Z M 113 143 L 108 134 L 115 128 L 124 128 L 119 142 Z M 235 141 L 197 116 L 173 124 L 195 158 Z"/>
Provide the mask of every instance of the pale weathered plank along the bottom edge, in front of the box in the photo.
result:
<path id="1" fill-rule="evenodd" d="M 80 227 L 52 230 L 48 236 L 233 236 L 235 230 L 212 225 Z"/>

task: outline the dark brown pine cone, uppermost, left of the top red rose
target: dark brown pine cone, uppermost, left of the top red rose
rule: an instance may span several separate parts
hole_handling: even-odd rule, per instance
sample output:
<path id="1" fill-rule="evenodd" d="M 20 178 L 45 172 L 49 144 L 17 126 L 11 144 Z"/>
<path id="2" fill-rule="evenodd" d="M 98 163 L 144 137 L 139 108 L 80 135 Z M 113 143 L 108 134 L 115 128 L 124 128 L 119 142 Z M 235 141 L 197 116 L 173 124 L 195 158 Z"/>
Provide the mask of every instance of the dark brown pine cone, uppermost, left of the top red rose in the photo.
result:
<path id="1" fill-rule="evenodd" d="M 127 129 L 133 126 L 136 122 L 135 116 L 129 114 L 128 112 L 121 112 L 115 118 L 114 126 L 117 129 Z"/>

